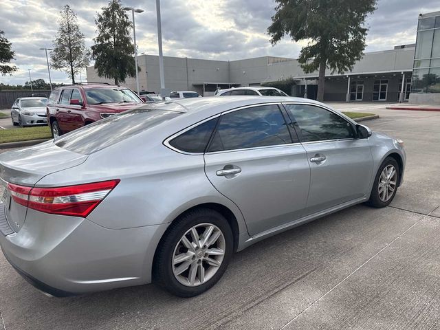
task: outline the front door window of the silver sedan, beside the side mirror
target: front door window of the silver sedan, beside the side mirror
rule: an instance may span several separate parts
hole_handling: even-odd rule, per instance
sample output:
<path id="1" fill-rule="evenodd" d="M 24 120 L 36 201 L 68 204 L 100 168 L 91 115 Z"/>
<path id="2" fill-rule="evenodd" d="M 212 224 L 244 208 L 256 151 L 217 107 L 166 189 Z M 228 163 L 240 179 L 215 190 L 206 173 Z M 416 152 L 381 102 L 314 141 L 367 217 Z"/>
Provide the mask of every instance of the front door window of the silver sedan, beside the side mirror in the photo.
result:
<path id="1" fill-rule="evenodd" d="M 299 127 L 301 142 L 354 138 L 350 122 L 327 109 L 308 104 L 285 104 Z"/>

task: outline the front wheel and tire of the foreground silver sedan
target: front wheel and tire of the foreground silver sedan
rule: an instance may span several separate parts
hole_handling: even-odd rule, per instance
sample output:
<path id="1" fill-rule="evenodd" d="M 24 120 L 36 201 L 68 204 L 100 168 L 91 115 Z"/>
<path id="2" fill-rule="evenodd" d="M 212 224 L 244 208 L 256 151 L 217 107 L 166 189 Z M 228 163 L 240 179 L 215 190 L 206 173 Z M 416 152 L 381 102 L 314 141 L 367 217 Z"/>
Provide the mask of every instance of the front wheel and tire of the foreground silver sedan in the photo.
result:
<path id="1" fill-rule="evenodd" d="M 396 195 L 399 180 L 399 164 L 393 157 L 386 157 L 379 170 L 377 170 L 370 199 L 366 204 L 373 206 L 373 208 L 388 206 Z"/>

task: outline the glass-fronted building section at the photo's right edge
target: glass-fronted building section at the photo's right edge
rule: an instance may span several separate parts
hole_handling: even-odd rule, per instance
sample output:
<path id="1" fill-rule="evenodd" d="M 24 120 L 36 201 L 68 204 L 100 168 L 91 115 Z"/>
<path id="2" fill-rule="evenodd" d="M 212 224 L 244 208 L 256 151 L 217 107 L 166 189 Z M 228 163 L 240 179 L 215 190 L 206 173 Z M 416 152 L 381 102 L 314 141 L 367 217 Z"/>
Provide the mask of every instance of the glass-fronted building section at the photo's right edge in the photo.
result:
<path id="1" fill-rule="evenodd" d="M 420 14 L 411 94 L 440 94 L 440 12 Z"/>

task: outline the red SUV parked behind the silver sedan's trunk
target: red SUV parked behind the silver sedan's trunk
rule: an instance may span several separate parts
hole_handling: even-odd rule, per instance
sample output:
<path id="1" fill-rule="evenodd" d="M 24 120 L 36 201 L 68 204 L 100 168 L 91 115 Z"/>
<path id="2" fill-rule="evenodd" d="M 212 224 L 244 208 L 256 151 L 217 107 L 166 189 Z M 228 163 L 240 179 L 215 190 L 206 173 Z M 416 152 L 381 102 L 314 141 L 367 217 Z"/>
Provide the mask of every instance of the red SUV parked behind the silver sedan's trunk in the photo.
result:
<path id="1" fill-rule="evenodd" d="M 79 83 L 52 91 L 47 101 L 47 122 L 53 137 L 140 107 L 144 100 L 126 87 L 107 83 Z"/>

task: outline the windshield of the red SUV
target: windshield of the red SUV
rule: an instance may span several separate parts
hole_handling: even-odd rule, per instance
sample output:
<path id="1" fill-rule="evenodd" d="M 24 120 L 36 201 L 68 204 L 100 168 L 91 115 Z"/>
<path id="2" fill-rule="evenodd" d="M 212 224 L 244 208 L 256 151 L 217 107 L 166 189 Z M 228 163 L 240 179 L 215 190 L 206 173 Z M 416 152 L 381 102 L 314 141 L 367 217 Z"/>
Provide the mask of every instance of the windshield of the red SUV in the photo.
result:
<path id="1" fill-rule="evenodd" d="M 120 103 L 120 102 L 141 103 L 141 100 L 130 89 L 118 89 L 118 88 L 86 89 L 85 95 L 87 97 L 88 104 Z"/>

